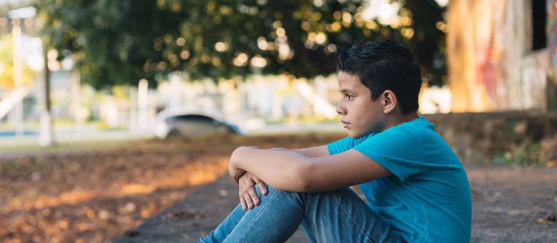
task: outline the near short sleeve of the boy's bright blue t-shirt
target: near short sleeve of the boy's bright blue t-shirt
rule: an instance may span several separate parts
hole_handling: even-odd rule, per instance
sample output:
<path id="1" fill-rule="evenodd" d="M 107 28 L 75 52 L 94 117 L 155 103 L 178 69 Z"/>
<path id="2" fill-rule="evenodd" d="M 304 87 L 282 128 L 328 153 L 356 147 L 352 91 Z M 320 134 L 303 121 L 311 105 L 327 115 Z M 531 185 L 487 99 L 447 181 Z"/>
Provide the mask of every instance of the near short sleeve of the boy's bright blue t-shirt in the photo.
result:
<path id="1" fill-rule="evenodd" d="M 418 139 L 401 126 L 377 133 L 353 149 L 378 162 L 398 176 L 400 181 L 421 174 L 429 168 Z"/>

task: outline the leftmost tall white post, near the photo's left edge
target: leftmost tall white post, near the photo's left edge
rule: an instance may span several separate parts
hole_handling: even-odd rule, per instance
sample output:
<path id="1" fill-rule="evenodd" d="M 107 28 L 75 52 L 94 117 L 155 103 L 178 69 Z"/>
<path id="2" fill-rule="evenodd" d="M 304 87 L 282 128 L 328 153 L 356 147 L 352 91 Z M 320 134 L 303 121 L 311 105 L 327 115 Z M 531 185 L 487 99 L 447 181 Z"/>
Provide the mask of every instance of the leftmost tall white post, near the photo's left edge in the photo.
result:
<path id="1" fill-rule="evenodd" d="M 14 90 L 19 90 L 23 86 L 22 81 L 22 28 L 19 26 L 19 19 L 12 19 L 12 40 L 13 40 L 13 83 Z M 23 137 L 23 97 L 14 106 L 15 137 Z"/>

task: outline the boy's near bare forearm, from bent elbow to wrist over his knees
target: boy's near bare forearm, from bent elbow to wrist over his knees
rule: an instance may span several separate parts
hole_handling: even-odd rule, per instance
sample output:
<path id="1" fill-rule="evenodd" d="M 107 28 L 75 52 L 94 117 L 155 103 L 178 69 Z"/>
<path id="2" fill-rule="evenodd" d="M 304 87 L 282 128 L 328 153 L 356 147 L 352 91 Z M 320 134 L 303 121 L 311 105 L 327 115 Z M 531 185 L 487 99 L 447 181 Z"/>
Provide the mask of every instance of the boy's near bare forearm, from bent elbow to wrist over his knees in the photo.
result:
<path id="1" fill-rule="evenodd" d="M 230 163 L 278 190 L 295 191 L 306 186 L 304 173 L 311 166 L 309 159 L 294 151 L 240 147 L 234 151 Z"/>

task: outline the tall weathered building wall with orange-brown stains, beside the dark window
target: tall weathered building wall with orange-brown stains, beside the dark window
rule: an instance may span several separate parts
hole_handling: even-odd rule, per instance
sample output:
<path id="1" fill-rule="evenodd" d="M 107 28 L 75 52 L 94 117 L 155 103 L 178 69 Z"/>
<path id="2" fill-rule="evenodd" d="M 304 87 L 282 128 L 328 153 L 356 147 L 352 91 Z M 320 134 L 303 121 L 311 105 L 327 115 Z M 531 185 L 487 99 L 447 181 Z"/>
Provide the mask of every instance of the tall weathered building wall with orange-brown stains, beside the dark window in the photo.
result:
<path id="1" fill-rule="evenodd" d="M 531 1 L 450 1 L 453 112 L 547 110 L 550 51 L 532 51 Z"/>

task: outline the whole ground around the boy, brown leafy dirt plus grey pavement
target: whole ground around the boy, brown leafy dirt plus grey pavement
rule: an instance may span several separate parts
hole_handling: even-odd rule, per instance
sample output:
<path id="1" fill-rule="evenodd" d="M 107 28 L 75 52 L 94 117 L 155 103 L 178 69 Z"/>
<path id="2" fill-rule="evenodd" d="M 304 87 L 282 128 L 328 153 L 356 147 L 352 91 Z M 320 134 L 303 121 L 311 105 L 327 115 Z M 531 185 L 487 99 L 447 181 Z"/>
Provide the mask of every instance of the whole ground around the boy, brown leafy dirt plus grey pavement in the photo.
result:
<path id="1" fill-rule="evenodd" d="M 3 152 L 0 242 L 197 242 L 238 203 L 237 185 L 226 175 L 237 146 L 299 148 L 343 136 L 140 140 Z M 466 173 L 471 242 L 557 242 L 557 224 L 547 221 L 557 213 L 557 168 L 466 165 Z M 289 242 L 307 241 L 298 231 Z"/>

